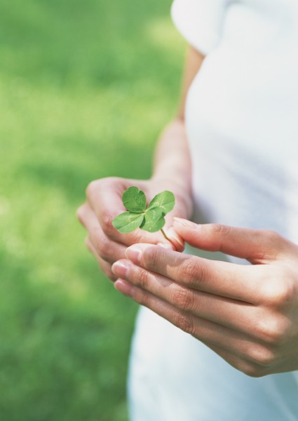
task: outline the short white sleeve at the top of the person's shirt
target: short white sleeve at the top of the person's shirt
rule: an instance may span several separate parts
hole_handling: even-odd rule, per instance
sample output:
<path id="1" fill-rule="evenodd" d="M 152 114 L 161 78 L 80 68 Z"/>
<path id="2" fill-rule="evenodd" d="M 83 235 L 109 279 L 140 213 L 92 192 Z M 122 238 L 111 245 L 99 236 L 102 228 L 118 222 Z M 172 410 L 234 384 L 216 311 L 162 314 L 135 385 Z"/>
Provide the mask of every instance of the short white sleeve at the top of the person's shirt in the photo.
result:
<path id="1" fill-rule="evenodd" d="M 203 54 L 217 46 L 226 0 L 174 0 L 172 20 L 185 39 Z"/>

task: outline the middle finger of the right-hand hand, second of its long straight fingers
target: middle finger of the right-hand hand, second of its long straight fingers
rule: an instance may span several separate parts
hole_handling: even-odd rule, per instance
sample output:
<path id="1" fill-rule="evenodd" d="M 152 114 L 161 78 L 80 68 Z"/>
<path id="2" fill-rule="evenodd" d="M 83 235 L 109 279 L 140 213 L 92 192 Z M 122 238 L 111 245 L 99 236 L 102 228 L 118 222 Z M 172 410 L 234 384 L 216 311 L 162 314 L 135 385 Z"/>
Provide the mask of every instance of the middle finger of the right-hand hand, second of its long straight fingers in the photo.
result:
<path id="1" fill-rule="evenodd" d="M 146 290 L 170 305 L 194 316 L 213 321 L 227 328 L 250 335 L 259 335 L 256 329 L 263 309 L 248 302 L 231 300 L 180 285 L 165 276 L 133 265 L 130 260 L 119 260 L 111 267 L 118 278 Z"/>

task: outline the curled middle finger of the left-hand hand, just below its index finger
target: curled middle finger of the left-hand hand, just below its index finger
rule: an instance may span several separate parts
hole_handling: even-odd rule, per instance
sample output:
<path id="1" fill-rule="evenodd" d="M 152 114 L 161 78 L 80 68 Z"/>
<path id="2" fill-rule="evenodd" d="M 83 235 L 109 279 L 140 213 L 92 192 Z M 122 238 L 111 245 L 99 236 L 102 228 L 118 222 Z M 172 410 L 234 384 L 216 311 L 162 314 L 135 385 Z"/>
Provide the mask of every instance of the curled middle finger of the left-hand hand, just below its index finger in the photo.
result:
<path id="1" fill-rule="evenodd" d="M 109 263 L 125 257 L 126 246 L 121 243 L 111 241 L 102 231 L 100 223 L 89 204 L 81 206 L 79 210 L 79 219 L 88 231 L 88 241 L 92 243 L 93 249 L 97 255 Z"/>

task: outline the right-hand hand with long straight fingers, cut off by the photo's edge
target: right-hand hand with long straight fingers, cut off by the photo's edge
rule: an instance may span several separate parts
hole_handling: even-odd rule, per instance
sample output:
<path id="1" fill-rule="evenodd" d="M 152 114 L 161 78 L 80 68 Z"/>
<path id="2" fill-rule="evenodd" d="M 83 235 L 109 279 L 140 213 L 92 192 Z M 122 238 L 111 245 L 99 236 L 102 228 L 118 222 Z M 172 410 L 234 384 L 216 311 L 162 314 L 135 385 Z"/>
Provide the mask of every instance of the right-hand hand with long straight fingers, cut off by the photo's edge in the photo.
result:
<path id="1" fill-rule="evenodd" d="M 177 220 L 191 246 L 245 258 L 207 260 L 138 244 L 112 270 L 116 289 L 253 377 L 298 370 L 298 246 L 269 230 Z"/>

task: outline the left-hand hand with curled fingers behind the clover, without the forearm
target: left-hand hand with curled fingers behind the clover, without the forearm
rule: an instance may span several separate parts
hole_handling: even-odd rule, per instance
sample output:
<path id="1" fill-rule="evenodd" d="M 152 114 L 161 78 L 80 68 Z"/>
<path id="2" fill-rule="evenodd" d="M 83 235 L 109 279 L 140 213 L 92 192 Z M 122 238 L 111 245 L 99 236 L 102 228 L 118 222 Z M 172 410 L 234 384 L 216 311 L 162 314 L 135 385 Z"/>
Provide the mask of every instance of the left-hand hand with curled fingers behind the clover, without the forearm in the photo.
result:
<path id="1" fill-rule="evenodd" d="M 165 246 L 183 250 L 184 241 L 170 229 L 167 234 L 171 240 L 165 240 L 160 232 L 150 234 L 137 229 L 130 234 L 119 233 L 111 224 L 116 215 L 123 212 L 122 194 L 130 186 L 137 186 L 144 191 L 147 199 L 151 200 L 163 189 L 171 189 L 176 196 L 175 208 L 167 215 L 165 230 L 172 225 L 172 218 L 189 216 L 190 199 L 184 197 L 181 187 L 176 187 L 170 182 L 162 180 L 126 180 L 123 178 L 103 178 L 95 180 L 88 185 L 87 201 L 77 211 L 78 218 L 87 229 L 88 237 L 86 246 L 97 259 L 102 271 L 111 279 L 115 280 L 111 272 L 111 265 L 116 260 L 125 258 L 127 246 L 133 243 L 163 243 Z"/>

